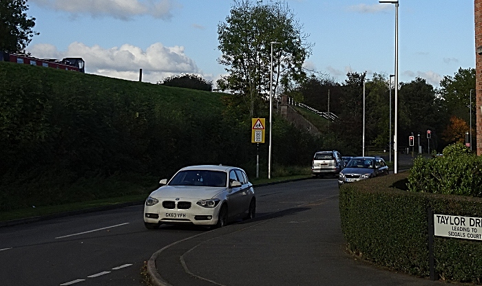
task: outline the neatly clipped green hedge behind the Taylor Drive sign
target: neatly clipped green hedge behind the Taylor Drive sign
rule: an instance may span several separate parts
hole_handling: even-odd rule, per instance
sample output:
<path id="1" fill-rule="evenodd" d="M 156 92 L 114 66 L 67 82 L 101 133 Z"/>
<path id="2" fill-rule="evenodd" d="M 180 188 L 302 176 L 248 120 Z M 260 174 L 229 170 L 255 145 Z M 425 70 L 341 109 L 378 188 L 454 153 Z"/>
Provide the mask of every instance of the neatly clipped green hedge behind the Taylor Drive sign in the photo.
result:
<path id="1" fill-rule="evenodd" d="M 428 207 L 436 214 L 482 217 L 482 199 L 410 192 L 408 173 L 340 188 L 339 210 L 348 248 L 394 270 L 428 276 Z M 482 242 L 434 238 L 439 278 L 481 283 Z"/>

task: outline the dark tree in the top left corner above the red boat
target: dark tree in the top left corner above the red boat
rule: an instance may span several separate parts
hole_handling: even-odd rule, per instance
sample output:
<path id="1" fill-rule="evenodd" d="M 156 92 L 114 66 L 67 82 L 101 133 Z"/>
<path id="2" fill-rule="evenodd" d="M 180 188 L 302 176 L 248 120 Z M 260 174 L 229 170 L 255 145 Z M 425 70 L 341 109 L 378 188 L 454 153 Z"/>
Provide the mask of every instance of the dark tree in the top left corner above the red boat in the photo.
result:
<path id="1" fill-rule="evenodd" d="M 19 53 L 32 41 L 38 32 L 32 31 L 35 18 L 28 19 L 26 0 L 0 1 L 0 51 Z"/>

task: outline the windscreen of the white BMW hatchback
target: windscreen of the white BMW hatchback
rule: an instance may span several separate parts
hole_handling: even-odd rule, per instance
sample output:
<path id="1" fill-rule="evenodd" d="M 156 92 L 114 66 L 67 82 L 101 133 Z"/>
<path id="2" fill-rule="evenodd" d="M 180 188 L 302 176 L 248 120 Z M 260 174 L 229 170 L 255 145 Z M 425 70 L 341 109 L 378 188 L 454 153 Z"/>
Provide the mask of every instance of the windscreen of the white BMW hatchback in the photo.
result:
<path id="1" fill-rule="evenodd" d="M 169 186 L 225 187 L 227 173 L 218 170 L 182 170 L 169 181 Z"/>

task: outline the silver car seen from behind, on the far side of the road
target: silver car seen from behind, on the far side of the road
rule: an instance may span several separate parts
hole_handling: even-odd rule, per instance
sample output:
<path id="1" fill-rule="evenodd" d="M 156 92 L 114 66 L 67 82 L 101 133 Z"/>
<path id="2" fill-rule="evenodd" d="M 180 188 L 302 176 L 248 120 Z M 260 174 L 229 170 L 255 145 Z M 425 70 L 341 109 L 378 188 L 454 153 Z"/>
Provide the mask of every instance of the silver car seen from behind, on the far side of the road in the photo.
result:
<path id="1" fill-rule="evenodd" d="M 311 175 L 323 177 L 324 175 L 338 175 L 345 164 L 338 151 L 317 151 L 311 163 Z"/>

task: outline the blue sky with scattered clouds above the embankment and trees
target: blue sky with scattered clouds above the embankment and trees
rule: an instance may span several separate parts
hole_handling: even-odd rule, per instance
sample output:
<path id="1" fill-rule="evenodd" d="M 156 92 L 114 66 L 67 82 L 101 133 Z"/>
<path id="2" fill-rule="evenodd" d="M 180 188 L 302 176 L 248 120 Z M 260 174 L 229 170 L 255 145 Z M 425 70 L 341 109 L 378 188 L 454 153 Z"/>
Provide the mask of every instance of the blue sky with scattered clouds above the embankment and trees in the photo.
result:
<path id="1" fill-rule="evenodd" d="M 265 0 L 266 2 L 266 0 Z M 348 72 L 395 74 L 395 5 L 378 0 L 285 0 L 312 54 L 304 67 L 344 83 Z M 28 0 L 36 58 L 81 57 L 85 72 L 157 83 L 225 75 L 218 25 L 232 0 Z M 474 0 L 399 0 L 399 82 L 475 67 Z M 216 86 L 215 86 L 216 87 Z"/>

